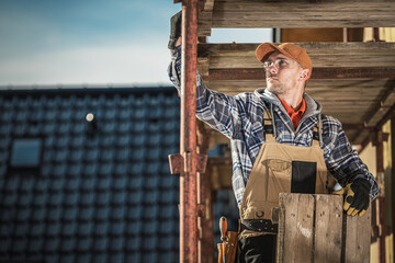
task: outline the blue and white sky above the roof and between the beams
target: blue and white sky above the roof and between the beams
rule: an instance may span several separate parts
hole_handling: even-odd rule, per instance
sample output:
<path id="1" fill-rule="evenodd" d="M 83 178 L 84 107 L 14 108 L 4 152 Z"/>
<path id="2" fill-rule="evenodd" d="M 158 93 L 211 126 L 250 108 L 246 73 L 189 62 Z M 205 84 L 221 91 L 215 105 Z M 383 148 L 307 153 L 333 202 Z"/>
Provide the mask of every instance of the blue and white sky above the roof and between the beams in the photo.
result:
<path id="1" fill-rule="evenodd" d="M 172 0 L 0 0 L 0 88 L 169 85 Z M 212 43 L 271 41 L 213 30 Z"/>

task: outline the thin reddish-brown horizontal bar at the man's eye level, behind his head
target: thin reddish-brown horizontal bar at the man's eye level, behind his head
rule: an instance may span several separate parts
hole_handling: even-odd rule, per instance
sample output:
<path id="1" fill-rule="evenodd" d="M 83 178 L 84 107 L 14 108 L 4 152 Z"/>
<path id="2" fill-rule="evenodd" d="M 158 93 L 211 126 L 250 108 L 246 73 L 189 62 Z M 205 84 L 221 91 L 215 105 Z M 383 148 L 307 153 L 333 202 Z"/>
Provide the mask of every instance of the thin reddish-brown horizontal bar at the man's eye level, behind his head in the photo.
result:
<path id="1" fill-rule="evenodd" d="M 394 68 L 313 68 L 311 79 L 387 79 L 395 76 Z M 210 69 L 205 80 L 264 80 L 262 68 Z"/>

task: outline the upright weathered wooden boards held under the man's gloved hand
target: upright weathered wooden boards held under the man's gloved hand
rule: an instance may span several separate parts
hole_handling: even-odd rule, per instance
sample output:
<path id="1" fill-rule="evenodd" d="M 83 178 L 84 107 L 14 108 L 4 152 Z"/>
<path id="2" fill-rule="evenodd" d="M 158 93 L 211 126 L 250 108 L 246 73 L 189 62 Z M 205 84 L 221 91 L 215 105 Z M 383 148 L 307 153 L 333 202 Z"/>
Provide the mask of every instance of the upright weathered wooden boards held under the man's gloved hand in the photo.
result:
<path id="1" fill-rule="evenodd" d="M 350 217 L 339 195 L 280 194 L 278 263 L 368 263 L 371 209 Z"/>

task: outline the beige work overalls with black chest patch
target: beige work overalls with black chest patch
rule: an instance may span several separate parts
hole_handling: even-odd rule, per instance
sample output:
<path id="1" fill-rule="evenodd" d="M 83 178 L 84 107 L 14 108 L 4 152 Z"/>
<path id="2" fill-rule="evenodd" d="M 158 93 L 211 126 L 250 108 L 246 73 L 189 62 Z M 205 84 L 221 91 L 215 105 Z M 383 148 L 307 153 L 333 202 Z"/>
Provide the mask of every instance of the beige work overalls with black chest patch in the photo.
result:
<path id="1" fill-rule="evenodd" d="M 266 127 L 270 127 L 268 125 L 272 125 L 273 122 L 267 111 L 263 122 Z M 320 136 L 321 130 L 318 126 L 320 124 L 316 125 L 315 129 Z M 319 141 L 313 139 L 311 147 L 290 146 L 276 142 L 273 135 L 267 133 L 266 142 L 248 179 L 239 210 L 241 221 L 263 221 L 268 228 L 260 231 L 242 229 L 239 239 L 276 233 L 269 229 L 272 228 L 272 209 L 279 206 L 279 193 L 323 194 L 326 188 L 327 169 Z"/>

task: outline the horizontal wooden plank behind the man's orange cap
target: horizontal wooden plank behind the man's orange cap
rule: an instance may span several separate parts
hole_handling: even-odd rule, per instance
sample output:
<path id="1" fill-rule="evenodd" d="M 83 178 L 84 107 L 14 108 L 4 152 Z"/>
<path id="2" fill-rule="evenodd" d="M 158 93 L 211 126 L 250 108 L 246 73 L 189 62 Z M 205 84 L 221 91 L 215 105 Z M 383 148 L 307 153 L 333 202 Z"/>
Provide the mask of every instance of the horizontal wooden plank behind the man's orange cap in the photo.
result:
<path id="1" fill-rule="evenodd" d="M 261 68 L 255 56 L 259 44 L 200 44 L 210 68 Z M 395 43 L 297 43 L 314 67 L 395 67 Z"/>

